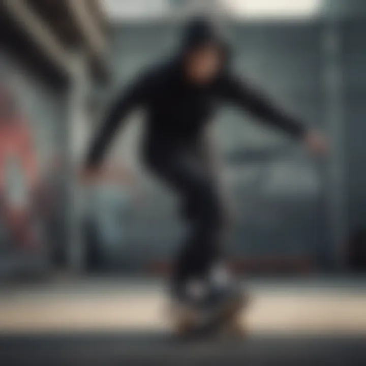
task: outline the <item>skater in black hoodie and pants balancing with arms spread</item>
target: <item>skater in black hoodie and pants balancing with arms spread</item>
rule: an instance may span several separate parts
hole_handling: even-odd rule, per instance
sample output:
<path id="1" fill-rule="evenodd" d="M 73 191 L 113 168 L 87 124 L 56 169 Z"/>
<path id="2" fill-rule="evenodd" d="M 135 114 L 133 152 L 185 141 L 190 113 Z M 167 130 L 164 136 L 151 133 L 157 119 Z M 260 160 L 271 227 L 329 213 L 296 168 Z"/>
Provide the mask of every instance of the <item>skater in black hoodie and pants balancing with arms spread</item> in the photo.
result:
<path id="1" fill-rule="evenodd" d="M 181 43 L 176 57 L 145 71 L 117 96 L 86 164 L 95 169 L 126 115 L 137 107 L 145 110 L 143 161 L 181 197 L 190 224 L 172 280 L 174 291 L 184 297 L 187 282 L 207 279 L 222 258 L 225 210 L 204 142 L 204 131 L 216 109 L 234 104 L 316 151 L 324 148 L 324 141 L 231 72 L 229 49 L 215 24 L 204 18 L 191 20 Z"/>

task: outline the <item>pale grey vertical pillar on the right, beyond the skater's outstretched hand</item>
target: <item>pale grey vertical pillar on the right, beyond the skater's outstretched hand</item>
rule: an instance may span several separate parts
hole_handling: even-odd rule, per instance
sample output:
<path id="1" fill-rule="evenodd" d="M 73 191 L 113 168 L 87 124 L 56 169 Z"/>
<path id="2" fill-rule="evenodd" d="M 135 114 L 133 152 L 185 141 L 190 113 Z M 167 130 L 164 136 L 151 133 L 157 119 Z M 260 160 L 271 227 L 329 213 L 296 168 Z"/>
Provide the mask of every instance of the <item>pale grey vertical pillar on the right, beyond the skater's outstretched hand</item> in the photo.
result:
<path id="1" fill-rule="evenodd" d="M 347 230 L 341 58 L 338 17 L 329 12 L 324 33 L 324 81 L 326 90 L 325 125 L 330 151 L 324 194 L 326 195 L 326 244 L 328 245 L 326 251 L 330 264 L 335 269 L 341 269 L 344 266 L 344 240 Z"/>

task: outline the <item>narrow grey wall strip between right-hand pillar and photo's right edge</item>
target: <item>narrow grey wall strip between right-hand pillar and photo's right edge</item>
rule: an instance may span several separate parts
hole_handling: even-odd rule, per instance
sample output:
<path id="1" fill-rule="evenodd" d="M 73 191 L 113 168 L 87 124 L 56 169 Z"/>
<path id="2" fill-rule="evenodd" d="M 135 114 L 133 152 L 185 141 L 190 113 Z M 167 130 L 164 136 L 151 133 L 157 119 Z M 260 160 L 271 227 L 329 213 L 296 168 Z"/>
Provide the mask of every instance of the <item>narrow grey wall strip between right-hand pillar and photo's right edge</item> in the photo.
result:
<path id="1" fill-rule="evenodd" d="M 366 18 L 358 21 L 344 20 L 340 23 L 344 85 L 347 214 L 351 230 L 366 226 L 365 32 Z"/>

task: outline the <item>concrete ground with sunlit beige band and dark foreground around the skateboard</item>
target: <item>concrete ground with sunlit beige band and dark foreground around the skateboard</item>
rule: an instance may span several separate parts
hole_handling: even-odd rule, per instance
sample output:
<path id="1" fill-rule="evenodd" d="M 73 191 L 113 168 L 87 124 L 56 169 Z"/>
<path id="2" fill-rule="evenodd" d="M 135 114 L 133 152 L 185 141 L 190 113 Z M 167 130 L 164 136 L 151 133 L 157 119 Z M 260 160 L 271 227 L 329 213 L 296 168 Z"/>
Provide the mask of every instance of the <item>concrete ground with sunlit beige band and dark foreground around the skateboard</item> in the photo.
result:
<path id="1" fill-rule="evenodd" d="M 366 364 L 366 279 L 250 279 L 243 286 L 252 295 L 241 319 L 246 339 L 181 342 L 159 281 L 3 285 L 0 364 Z"/>

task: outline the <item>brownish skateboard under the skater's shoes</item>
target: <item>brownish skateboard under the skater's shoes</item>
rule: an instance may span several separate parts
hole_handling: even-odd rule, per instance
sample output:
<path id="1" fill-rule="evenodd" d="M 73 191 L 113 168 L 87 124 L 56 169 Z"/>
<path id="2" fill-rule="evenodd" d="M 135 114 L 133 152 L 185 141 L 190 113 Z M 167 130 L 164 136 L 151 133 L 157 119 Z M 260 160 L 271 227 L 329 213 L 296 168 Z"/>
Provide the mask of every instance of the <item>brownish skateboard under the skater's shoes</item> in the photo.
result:
<path id="1" fill-rule="evenodd" d="M 223 335 L 245 337 L 247 326 L 243 314 L 248 310 L 249 299 L 243 295 L 225 304 L 222 308 L 203 312 L 172 302 L 170 319 L 174 333 L 180 338 Z"/>

